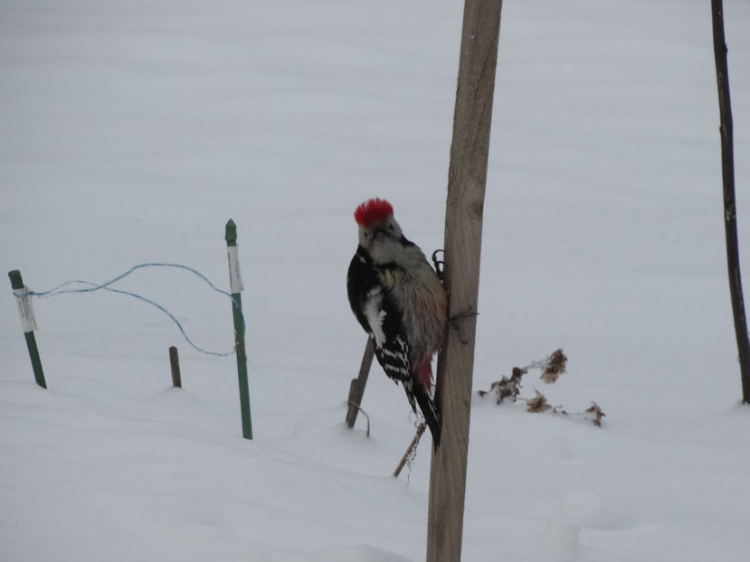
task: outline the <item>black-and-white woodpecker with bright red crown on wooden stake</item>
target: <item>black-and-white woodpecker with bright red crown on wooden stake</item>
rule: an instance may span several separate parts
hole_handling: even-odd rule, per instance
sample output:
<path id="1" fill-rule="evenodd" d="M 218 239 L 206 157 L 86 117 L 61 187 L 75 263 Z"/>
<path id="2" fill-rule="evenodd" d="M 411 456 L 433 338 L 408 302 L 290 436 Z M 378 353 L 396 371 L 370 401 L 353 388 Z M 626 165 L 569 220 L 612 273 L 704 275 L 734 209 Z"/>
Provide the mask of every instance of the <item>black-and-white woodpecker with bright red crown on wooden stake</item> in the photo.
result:
<path id="1" fill-rule="evenodd" d="M 403 236 L 391 203 L 365 201 L 354 218 L 359 245 L 347 274 L 349 304 L 373 338 L 385 374 L 403 385 L 414 414 L 419 405 L 437 447 L 441 416 L 431 398 L 432 356 L 445 338 L 445 289 L 422 249 Z"/>

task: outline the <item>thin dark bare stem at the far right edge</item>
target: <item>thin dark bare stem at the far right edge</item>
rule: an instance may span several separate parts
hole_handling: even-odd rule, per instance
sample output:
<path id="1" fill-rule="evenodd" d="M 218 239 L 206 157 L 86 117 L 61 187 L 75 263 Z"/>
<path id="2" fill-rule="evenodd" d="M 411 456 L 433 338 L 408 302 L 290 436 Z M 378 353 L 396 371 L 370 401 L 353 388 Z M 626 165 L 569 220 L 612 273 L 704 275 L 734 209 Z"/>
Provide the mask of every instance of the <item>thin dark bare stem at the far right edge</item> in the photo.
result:
<path id="1" fill-rule="evenodd" d="M 729 295 L 735 319 L 735 336 L 742 379 L 742 401 L 750 404 L 750 341 L 747 337 L 745 299 L 742 295 L 742 276 L 737 241 L 737 212 L 735 204 L 735 149 L 733 141 L 732 104 L 729 97 L 729 69 L 726 63 L 724 35 L 724 5 L 722 0 L 711 0 L 711 19 L 714 31 L 714 60 L 717 67 L 719 133 L 721 135 L 721 174 L 724 185 L 724 234 L 726 239 L 726 267 L 729 272 Z"/>

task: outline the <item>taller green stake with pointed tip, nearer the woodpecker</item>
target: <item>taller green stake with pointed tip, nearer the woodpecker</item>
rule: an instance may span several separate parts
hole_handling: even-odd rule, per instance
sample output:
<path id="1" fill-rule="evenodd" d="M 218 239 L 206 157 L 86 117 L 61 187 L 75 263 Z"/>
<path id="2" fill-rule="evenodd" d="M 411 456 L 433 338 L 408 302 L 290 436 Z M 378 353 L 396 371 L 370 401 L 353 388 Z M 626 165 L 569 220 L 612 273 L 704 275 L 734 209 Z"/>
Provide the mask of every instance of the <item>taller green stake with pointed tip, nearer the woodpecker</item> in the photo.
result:
<path id="1" fill-rule="evenodd" d="M 229 286 L 232 292 L 232 314 L 234 318 L 234 351 L 237 353 L 237 378 L 240 381 L 240 409 L 242 411 L 242 436 L 252 439 L 250 417 L 250 389 L 247 382 L 247 353 L 245 352 L 245 322 L 242 314 L 242 277 L 237 258 L 237 225 L 230 219 L 226 223 L 224 239 L 229 257 Z"/>

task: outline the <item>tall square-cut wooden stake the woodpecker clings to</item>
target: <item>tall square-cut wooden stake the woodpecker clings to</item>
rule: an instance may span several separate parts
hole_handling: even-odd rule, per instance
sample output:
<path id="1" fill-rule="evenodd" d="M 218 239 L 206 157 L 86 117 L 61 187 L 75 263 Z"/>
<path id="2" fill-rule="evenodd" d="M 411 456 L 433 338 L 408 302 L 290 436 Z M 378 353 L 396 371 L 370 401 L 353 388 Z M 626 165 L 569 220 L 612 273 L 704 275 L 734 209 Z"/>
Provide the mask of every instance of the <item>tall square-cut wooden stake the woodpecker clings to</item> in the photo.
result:
<path id="1" fill-rule="evenodd" d="M 438 358 L 441 445 L 432 452 L 427 562 L 458 562 L 469 453 L 482 211 L 502 0 L 465 0 L 445 214 L 451 328 Z"/>

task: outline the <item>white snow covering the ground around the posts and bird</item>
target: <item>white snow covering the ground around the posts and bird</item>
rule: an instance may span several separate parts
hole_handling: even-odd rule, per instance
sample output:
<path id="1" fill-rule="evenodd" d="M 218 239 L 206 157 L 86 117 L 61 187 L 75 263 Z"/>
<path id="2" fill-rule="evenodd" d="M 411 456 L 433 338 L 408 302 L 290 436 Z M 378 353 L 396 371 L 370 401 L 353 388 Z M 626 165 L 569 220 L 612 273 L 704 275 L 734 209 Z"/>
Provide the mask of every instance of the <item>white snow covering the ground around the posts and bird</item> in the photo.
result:
<path id="1" fill-rule="evenodd" d="M 746 256 L 750 5 L 725 9 Z M 424 559 L 429 437 L 390 476 L 403 391 L 375 368 L 372 436 L 343 424 L 365 343 L 345 276 L 370 196 L 441 247 L 460 23 L 448 0 L 2 0 L 0 264 L 38 291 L 148 261 L 228 288 L 232 217 L 255 439 L 233 358 L 124 295 L 34 301 L 36 387 L 8 286 L 0 559 Z M 717 129 L 707 1 L 504 3 L 474 388 L 562 347 L 524 395 L 606 417 L 474 400 L 464 560 L 746 559 Z M 197 277 L 119 288 L 231 349 Z"/>

